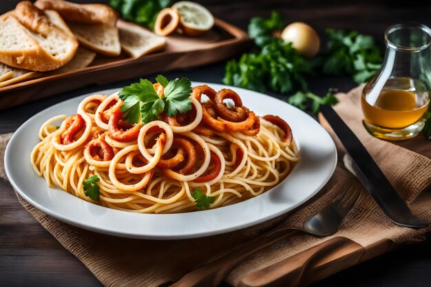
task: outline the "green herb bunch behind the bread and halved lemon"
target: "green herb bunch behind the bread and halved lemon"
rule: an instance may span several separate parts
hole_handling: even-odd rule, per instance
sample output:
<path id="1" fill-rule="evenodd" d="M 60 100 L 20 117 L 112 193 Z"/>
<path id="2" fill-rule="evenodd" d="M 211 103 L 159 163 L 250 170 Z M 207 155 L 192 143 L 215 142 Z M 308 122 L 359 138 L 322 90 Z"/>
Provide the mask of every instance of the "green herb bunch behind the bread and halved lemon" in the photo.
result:
<path id="1" fill-rule="evenodd" d="M 109 5 L 120 12 L 124 19 L 154 29 L 157 14 L 171 6 L 170 0 L 110 0 Z"/>

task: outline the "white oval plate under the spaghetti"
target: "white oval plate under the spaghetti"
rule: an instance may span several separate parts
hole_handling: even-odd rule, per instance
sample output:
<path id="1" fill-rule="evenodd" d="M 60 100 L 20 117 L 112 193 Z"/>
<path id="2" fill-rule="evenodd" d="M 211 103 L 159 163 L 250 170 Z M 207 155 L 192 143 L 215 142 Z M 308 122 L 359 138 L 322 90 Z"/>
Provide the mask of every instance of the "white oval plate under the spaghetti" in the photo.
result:
<path id="1" fill-rule="evenodd" d="M 199 84 L 193 83 L 193 86 Z M 227 86 L 211 84 L 211 87 L 218 90 Z M 270 220 L 295 209 L 322 189 L 335 170 L 335 145 L 319 123 L 304 111 L 271 96 L 238 87 L 229 88 L 238 92 L 244 105 L 257 115 L 273 114 L 286 120 L 302 158 L 286 180 L 256 198 L 207 211 L 137 214 L 108 209 L 61 189 L 48 188 L 30 164 L 30 153 L 39 142 L 39 127 L 52 116 L 75 114 L 78 103 L 90 94 L 65 100 L 21 125 L 6 147 L 6 174 L 12 187 L 37 209 L 74 226 L 110 235 L 172 240 L 226 233 Z M 112 94 L 116 90 L 97 94 Z"/>

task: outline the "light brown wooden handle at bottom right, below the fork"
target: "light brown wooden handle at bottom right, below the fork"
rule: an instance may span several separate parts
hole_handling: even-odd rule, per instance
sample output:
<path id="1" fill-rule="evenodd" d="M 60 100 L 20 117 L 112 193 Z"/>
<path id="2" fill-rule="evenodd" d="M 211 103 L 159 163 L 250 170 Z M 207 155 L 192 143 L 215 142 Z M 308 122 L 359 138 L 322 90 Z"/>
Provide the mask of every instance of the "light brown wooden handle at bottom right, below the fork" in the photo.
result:
<path id="1" fill-rule="evenodd" d="M 238 287 L 306 286 L 357 264 L 364 251 L 363 246 L 346 237 L 334 237 L 249 273 Z"/>

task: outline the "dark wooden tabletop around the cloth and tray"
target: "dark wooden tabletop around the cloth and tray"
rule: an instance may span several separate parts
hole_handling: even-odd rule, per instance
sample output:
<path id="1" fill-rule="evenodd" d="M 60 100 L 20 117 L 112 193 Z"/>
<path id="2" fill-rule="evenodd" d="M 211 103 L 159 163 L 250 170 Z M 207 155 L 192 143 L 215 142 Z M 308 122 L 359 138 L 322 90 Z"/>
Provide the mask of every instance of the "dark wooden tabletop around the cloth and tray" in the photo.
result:
<path id="1" fill-rule="evenodd" d="M 0 12 L 16 5 L 16 0 L 1 0 Z M 81 2 L 90 2 L 83 1 Z M 104 1 L 92 1 L 104 2 Z M 269 15 L 271 10 L 281 12 L 287 22 L 305 21 L 319 34 L 325 28 L 355 29 L 372 34 L 379 41 L 392 23 L 417 21 L 431 25 L 431 7 L 422 3 L 401 4 L 395 1 L 247 1 L 212 0 L 204 3 L 216 17 L 241 28 L 246 28 L 250 17 Z M 255 3 L 256 2 L 256 3 Z M 187 71 L 173 71 L 168 78 L 187 76 L 193 81 L 221 83 L 224 63 L 217 63 Z M 154 78 L 154 75 L 149 75 Z M 14 131 L 30 116 L 62 100 L 96 92 L 103 87 L 86 87 L 0 111 L 0 134 Z M 324 94 L 329 87 L 346 92 L 355 86 L 348 77 L 315 76 L 309 78 L 309 87 Z M 285 97 L 280 94 L 274 96 Z M 430 144 L 431 145 L 431 144 Z M 431 242 L 400 246 L 397 250 L 333 275 L 314 286 L 431 286 Z M 15 198 L 12 187 L 0 180 L 0 286 L 101 286 L 101 283 L 73 255 L 56 242 Z"/>

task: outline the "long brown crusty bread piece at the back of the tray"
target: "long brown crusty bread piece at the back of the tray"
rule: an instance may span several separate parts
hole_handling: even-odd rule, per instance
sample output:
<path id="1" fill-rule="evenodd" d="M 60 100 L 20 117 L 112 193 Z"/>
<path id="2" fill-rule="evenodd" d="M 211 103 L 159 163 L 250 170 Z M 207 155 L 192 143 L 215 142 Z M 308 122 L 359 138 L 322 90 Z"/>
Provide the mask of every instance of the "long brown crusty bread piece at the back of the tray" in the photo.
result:
<path id="1" fill-rule="evenodd" d="M 65 21 L 114 26 L 117 12 L 104 4 L 77 4 L 63 0 L 38 0 L 34 6 L 41 10 L 56 10 Z"/>

